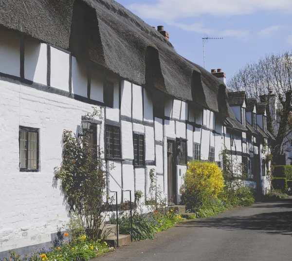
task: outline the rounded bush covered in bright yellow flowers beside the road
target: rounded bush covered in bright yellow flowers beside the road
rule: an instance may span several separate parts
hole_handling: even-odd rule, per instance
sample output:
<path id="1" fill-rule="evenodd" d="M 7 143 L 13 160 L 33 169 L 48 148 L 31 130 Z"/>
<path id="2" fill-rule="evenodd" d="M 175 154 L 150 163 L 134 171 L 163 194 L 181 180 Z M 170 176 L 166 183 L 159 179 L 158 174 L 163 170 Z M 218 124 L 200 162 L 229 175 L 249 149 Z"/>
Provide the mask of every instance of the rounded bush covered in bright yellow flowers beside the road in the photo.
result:
<path id="1" fill-rule="evenodd" d="M 191 161 L 181 187 L 182 203 L 196 211 L 214 204 L 224 186 L 222 170 L 216 163 Z"/>

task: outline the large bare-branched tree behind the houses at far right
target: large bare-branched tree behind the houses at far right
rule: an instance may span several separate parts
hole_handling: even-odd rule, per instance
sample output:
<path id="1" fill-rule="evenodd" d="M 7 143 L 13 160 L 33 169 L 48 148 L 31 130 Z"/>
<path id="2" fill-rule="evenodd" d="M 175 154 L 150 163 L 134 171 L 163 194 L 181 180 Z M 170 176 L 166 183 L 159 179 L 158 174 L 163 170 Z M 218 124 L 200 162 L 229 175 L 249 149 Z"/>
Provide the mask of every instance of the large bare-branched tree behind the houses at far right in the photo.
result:
<path id="1" fill-rule="evenodd" d="M 277 163 L 285 145 L 292 140 L 292 53 L 266 55 L 247 64 L 227 86 L 236 91 L 245 90 L 248 97 L 267 102 L 268 130 L 276 138 L 273 158 Z"/>

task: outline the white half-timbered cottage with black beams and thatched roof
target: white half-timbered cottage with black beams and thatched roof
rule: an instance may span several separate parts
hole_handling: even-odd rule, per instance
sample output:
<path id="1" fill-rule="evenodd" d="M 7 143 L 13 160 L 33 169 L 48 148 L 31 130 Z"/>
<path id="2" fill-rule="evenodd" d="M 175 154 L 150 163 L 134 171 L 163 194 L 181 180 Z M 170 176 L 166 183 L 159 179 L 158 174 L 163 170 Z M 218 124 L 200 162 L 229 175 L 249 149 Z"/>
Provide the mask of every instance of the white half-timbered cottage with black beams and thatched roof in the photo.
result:
<path id="1" fill-rule="evenodd" d="M 7 0 L 0 16 L 0 257 L 50 245 L 68 221 L 54 168 L 63 130 L 77 135 L 91 106 L 102 115 L 91 140 L 115 167 L 108 185 L 118 203 L 123 190 L 146 195 L 154 168 L 179 204 L 187 161 L 219 162 L 224 143 L 234 151 L 233 128 L 242 152 L 245 123 L 224 82 L 179 56 L 162 27 L 113 0 Z"/>

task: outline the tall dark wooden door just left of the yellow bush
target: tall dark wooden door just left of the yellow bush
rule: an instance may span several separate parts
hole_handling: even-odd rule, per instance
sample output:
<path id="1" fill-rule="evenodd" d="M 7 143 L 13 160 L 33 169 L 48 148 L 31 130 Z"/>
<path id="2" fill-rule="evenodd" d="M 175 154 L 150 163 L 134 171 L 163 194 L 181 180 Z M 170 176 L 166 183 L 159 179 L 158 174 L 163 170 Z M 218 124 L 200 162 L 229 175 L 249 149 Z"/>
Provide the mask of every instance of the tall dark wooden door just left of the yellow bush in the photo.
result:
<path id="1" fill-rule="evenodd" d="M 175 142 L 173 140 L 167 140 L 167 188 L 168 204 L 176 203 Z"/>

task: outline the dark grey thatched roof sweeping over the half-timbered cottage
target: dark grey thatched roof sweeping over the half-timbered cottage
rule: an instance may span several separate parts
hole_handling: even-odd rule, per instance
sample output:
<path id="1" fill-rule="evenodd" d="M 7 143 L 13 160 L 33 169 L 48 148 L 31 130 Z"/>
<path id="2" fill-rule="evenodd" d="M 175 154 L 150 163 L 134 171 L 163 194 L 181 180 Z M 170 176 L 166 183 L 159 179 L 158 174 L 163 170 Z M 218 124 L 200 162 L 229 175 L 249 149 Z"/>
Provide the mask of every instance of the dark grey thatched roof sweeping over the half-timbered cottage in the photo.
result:
<path id="1" fill-rule="evenodd" d="M 226 116 L 225 85 L 114 0 L 0 0 L 0 25 Z"/>

